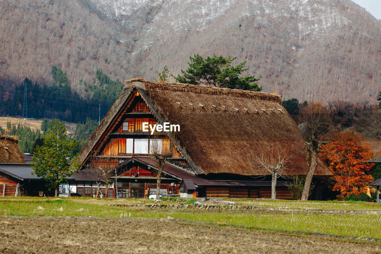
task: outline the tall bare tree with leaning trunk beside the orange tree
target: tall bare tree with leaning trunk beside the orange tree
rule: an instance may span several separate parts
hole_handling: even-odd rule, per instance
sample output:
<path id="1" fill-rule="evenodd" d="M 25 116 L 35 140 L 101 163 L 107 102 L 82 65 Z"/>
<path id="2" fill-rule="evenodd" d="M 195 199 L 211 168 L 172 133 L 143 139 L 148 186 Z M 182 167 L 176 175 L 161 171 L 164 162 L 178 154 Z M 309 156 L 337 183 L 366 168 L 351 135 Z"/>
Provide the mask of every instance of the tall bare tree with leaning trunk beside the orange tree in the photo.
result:
<path id="1" fill-rule="evenodd" d="M 308 106 L 302 106 L 299 114 L 301 122 L 299 129 L 306 144 L 308 166 L 301 200 L 307 200 L 320 148 L 330 142 L 330 133 L 334 128 L 330 111 L 320 103 L 312 102 Z"/>

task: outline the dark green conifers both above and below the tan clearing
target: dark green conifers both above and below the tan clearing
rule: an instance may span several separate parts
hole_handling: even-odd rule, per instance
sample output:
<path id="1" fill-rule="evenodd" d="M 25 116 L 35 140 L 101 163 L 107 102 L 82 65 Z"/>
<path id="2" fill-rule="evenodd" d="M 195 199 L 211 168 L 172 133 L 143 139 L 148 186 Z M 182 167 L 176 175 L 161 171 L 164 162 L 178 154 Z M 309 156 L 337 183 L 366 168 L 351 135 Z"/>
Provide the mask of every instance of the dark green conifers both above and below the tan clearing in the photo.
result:
<path id="1" fill-rule="evenodd" d="M 81 85 L 86 88 L 86 97 L 83 98 L 71 89 L 66 72 L 52 66 L 51 74 L 54 79 L 51 85 L 33 84 L 32 80 L 26 77 L 19 87 L 15 87 L 13 95 L 6 92 L 0 85 L 0 94 L 3 95 L 3 100 L 0 100 L 0 115 L 22 116 L 26 87 L 27 117 L 43 119 L 41 130 L 34 131 L 29 127 L 16 126 L 10 122 L 7 124 L 7 132 L 0 127 L 0 134 L 19 137 L 21 153 L 33 153 L 35 146 L 43 144 L 43 138 L 51 128 L 53 119 L 77 123 L 74 137 L 68 138 L 75 138 L 78 141 L 78 151 L 80 151 L 98 126 L 99 104 L 102 120 L 124 86 L 121 81 L 111 80 L 98 69 L 92 84 L 80 80 Z"/>

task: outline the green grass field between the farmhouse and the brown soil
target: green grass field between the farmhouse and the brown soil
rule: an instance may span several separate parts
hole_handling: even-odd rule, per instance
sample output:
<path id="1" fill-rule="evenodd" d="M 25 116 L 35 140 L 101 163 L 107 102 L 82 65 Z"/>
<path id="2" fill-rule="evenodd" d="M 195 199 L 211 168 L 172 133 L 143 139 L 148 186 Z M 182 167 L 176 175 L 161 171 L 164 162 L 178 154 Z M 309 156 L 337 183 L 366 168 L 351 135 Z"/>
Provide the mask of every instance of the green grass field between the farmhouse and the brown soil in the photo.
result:
<path id="1" fill-rule="evenodd" d="M 295 209 L 381 211 L 381 206 L 365 202 L 317 202 L 234 199 L 236 203 L 261 207 L 291 207 Z M 226 223 L 259 228 L 302 230 L 347 236 L 381 238 L 381 215 L 321 213 L 301 210 L 297 212 L 252 209 L 242 211 L 205 211 L 195 209 L 138 209 L 107 206 L 107 204 L 144 204 L 147 199 L 93 199 L 93 198 L 0 198 L 0 215 L 29 216 L 83 216 L 83 217 L 143 217 L 187 219 L 202 222 Z M 166 201 L 169 204 L 176 202 Z M 162 203 L 163 204 L 163 203 Z"/>

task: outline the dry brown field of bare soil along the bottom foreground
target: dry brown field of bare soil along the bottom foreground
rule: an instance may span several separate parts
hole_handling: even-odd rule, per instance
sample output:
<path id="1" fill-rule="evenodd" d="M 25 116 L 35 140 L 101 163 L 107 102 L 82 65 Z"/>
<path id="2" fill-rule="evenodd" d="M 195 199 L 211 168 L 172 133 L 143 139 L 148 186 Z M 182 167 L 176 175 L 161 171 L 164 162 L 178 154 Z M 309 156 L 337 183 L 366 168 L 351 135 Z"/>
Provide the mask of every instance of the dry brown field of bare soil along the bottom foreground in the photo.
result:
<path id="1" fill-rule="evenodd" d="M 1 253 L 381 253 L 381 245 L 170 220 L 2 217 Z"/>

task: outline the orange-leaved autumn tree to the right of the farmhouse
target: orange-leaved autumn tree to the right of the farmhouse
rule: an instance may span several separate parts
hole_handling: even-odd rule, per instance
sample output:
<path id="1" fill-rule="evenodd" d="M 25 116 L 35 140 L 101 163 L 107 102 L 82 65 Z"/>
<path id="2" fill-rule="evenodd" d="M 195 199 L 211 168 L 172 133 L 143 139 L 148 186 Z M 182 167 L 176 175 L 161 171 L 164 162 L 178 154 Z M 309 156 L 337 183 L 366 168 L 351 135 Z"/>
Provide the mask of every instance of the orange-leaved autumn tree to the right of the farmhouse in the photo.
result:
<path id="1" fill-rule="evenodd" d="M 322 158 L 333 172 L 334 191 L 339 191 L 339 199 L 354 193 L 367 191 L 367 183 L 373 181 L 370 170 L 374 164 L 369 146 L 354 133 L 337 133 L 333 141 L 322 147 Z"/>

